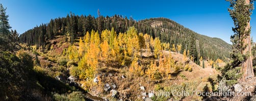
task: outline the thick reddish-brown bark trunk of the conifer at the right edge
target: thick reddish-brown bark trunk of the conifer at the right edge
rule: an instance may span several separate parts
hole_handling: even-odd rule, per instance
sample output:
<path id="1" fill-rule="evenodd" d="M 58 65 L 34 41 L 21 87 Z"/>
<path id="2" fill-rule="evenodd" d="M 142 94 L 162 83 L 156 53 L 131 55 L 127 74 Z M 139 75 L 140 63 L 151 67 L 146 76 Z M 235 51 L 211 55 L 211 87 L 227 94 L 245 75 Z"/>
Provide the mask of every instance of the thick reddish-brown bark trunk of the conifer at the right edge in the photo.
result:
<path id="1" fill-rule="evenodd" d="M 250 0 L 245 0 L 246 4 L 250 4 Z M 249 30 L 250 28 L 250 22 L 247 23 L 247 27 L 246 30 Z M 254 77 L 254 73 L 253 73 L 253 67 L 252 67 L 252 58 L 251 58 L 251 39 L 250 39 L 250 35 L 248 35 L 244 40 L 243 40 L 244 44 L 247 44 L 246 48 L 243 51 L 243 54 L 245 55 L 246 53 L 249 53 L 249 57 L 247 58 L 247 60 L 242 63 L 242 73 L 243 73 L 243 78 L 242 80 L 245 81 L 248 78 L 252 78 Z"/>

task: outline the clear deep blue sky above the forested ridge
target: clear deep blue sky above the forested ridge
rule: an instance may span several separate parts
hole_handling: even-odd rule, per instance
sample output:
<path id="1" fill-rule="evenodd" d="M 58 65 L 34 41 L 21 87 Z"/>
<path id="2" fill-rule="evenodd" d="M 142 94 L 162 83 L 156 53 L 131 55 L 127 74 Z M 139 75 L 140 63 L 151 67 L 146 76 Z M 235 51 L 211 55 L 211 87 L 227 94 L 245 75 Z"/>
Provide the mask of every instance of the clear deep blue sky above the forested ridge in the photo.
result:
<path id="1" fill-rule="evenodd" d="M 135 20 L 165 17 L 203 35 L 218 37 L 231 43 L 233 21 L 224 0 L 169 0 L 169 1 L 67 1 L 67 0 L 0 0 L 7 7 L 9 23 L 19 33 L 47 23 L 52 18 L 76 15 L 93 15 L 97 10 L 103 16 L 120 14 Z M 256 14 L 251 16 L 251 36 L 256 40 Z M 254 27 L 255 26 L 255 27 Z"/>

